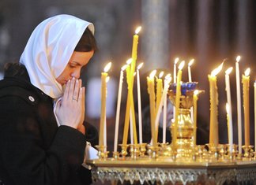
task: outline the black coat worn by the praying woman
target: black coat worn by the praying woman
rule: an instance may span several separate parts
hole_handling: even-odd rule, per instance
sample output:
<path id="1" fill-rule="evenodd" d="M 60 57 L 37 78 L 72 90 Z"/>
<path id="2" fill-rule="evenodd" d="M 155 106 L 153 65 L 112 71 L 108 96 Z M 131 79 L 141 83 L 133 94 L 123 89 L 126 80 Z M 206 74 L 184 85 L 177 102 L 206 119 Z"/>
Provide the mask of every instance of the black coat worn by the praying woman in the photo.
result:
<path id="1" fill-rule="evenodd" d="M 0 81 L 0 182 L 92 183 L 91 172 L 81 166 L 86 134 L 68 126 L 58 127 L 53 99 L 32 86 L 24 66 L 17 71 L 13 68 Z M 92 130 L 86 130 L 97 138 Z"/>

